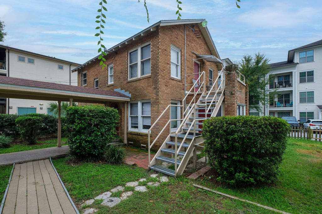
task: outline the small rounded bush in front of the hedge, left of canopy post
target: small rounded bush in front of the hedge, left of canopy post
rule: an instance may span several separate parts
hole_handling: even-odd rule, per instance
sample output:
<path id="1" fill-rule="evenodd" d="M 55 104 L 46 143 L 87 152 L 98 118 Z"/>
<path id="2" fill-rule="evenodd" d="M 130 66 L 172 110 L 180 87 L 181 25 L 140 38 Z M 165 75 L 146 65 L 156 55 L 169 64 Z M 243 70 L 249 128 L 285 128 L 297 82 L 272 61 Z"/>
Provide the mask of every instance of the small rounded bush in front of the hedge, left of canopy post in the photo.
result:
<path id="1" fill-rule="evenodd" d="M 18 117 L 16 119 L 17 129 L 21 139 L 29 144 L 36 143 L 36 134 L 43 124 L 43 119 L 40 117 Z"/>

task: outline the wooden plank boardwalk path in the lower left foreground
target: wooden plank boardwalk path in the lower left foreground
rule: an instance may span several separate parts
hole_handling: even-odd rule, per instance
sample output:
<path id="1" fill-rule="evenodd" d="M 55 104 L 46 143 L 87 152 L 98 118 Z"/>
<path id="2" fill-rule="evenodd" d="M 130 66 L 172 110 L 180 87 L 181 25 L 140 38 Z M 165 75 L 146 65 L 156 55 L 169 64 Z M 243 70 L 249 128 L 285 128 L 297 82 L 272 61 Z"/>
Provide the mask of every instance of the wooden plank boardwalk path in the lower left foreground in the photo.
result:
<path id="1" fill-rule="evenodd" d="M 49 159 L 16 164 L 2 214 L 76 214 Z"/>

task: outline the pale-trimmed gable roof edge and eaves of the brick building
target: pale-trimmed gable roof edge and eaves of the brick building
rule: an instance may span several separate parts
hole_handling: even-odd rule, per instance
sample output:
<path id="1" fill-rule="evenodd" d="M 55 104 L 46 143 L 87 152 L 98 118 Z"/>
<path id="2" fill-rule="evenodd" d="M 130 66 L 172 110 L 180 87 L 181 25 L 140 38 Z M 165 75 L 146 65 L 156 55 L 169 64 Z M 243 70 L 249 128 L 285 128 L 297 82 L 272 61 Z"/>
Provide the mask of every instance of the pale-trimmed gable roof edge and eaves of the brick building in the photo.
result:
<path id="1" fill-rule="evenodd" d="M 203 34 L 206 43 L 212 53 L 212 55 L 216 56 L 220 59 L 220 56 L 218 54 L 217 48 L 215 47 L 215 44 L 213 42 L 213 39 L 211 38 L 210 32 L 207 27 L 202 27 L 201 22 L 205 21 L 205 19 L 182 19 L 182 20 L 161 20 L 156 22 L 155 24 L 151 25 L 150 27 L 147 27 L 146 29 L 138 32 L 137 34 L 133 35 L 132 37 L 129 37 L 128 39 L 125 39 L 124 41 L 118 43 L 117 45 L 107 49 L 105 52 L 109 54 L 109 52 L 113 52 L 118 50 L 120 47 L 125 46 L 126 44 L 130 43 L 131 40 L 137 40 L 142 36 L 145 36 L 147 32 L 156 30 L 157 26 L 166 26 L 166 25 L 177 25 L 177 24 L 197 24 L 200 28 L 201 33 Z M 77 69 L 83 67 L 84 65 L 90 63 L 91 61 L 95 61 L 98 56 L 95 56 L 94 58 L 90 59 L 86 63 L 78 66 L 77 68 L 74 68 L 72 72 L 75 72 Z"/>

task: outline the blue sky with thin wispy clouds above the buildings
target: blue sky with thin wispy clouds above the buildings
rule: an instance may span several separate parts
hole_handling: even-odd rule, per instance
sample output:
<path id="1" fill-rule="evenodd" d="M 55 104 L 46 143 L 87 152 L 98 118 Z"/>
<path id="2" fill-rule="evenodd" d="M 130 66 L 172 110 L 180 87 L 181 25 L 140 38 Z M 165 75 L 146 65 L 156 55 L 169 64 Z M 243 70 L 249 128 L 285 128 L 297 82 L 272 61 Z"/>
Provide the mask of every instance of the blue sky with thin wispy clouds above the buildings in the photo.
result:
<path id="1" fill-rule="evenodd" d="M 98 55 L 99 0 L 0 1 L 4 45 L 83 64 Z M 109 48 L 160 20 L 176 19 L 175 0 L 107 0 L 103 44 Z M 220 57 L 263 53 L 270 63 L 322 39 L 321 0 L 181 0 L 182 19 L 206 19 Z"/>

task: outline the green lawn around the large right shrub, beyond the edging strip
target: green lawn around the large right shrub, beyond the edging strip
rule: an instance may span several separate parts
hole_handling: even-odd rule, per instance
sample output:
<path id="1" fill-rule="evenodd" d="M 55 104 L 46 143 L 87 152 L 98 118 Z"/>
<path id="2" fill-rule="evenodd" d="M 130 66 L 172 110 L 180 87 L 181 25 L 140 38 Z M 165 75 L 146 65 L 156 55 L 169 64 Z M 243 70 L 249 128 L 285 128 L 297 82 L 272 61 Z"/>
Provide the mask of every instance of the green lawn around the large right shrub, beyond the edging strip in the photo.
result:
<path id="1" fill-rule="evenodd" d="M 289 139 L 280 175 L 274 184 L 230 189 L 214 172 L 199 184 L 290 213 L 322 213 L 322 143 Z M 213 176 L 211 179 L 208 176 Z"/>

